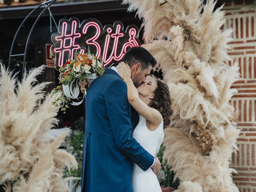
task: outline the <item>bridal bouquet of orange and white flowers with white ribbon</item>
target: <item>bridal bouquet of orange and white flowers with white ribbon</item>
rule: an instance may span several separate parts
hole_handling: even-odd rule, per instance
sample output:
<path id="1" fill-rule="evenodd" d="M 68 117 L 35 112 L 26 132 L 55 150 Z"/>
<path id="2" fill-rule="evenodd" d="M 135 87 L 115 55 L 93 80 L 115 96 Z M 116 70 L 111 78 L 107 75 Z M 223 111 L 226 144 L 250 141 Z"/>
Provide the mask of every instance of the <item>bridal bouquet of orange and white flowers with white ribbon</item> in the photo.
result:
<path id="1" fill-rule="evenodd" d="M 69 108 L 68 104 L 79 105 L 84 100 L 84 98 L 79 102 L 71 100 L 78 99 L 81 82 L 87 79 L 91 83 L 92 80 L 101 76 L 104 73 L 104 65 L 102 58 L 96 58 L 88 48 L 88 53 L 86 54 L 75 52 L 74 59 L 68 58 L 64 66 L 59 69 L 59 72 L 58 79 L 61 85 L 56 86 L 52 92 L 52 96 L 55 96 L 55 102 L 52 104 L 58 106 L 57 101 L 61 101 L 61 110 L 66 113 L 66 109 Z"/>

